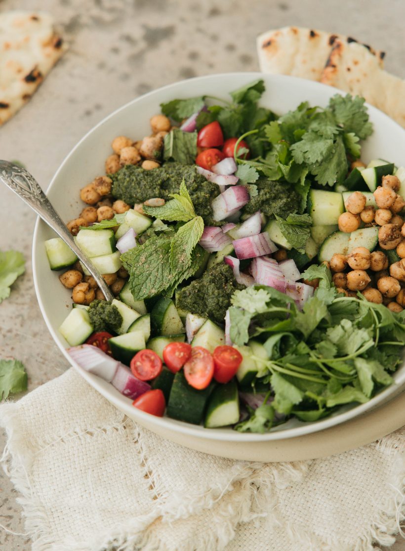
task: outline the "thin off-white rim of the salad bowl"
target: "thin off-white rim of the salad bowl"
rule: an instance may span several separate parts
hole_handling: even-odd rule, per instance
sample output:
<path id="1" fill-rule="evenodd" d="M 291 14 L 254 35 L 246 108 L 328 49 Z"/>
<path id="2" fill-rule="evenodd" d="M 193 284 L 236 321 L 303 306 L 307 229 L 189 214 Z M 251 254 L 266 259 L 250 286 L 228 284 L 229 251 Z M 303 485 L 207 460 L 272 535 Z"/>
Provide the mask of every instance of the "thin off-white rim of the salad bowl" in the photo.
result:
<path id="1" fill-rule="evenodd" d="M 73 154 L 76 152 L 77 149 L 81 147 L 81 144 L 86 141 L 87 137 L 90 136 L 91 133 L 93 133 L 97 128 L 102 126 L 107 120 L 110 120 L 111 118 L 115 117 L 119 112 L 127 109 L 129 106 L 132 106 L 138 102 L 143 101 L 144 98 L 150 98 L 156 94 L 160 94 L 162 91 L 169 91 L 172 88 L 177 88 L 179 85 L 187 84 L 189 82 L 198 82 L 201 80 L 207 81 L 218 78 L 227 78 L 227 77 L 240 77 L 243 75 L 244 77 L 249 77 L 251 80 L 262 78 L 264 80 L 269 79 L 277 82 L 279 81 L 286 81 L 290 82 L 292 85 L 301 85 L 303 87 L 307 87 L 308 91 L 310 91 L 311 88 L 313 89 L 324 89 L 327 90 L 328 94 L 338 93 L 341 95 L 346 95 L 347 93 L 334 87 L 327 86 L 326 84 L 322 84 L 319 82 L 316 82 L 314 80 L 307 80 L 299 77 L 291 77 L 289 75 L 281 75 L 281 74 L 267 74 L 267 73 L 260 73 L 260 72 L 231 72 L 231 73 L 215 73 L 215 74 L 208 74 L 208 75 L 201 75 L 198 77 L 193 77 L 190 79 L 184 79 L 184 80 L 178 80 L 171 84 L 166 84 L 163 87 L 156 88 L 154 90 L 151 90 L 147 92 L 146 94 L 143 94 L 141 96 L 138 96 L 137 98 L 134 98 L 133 100 L 128 101 L 126 104 L 118 107 L 114 111 L 112 111 L 110 114 L 108 114 L 106 117 L 103 117 L 101 121 L 99 121 L 94 127 L 92 127 L 88 132 L 84 134 L 84 136 L 74 145 L 74 147 L 70 150 L 70 152 L 65 156 L 62 163 L 59 165 L 57 171 L 54 173 L 52 180 L 50 184 L 47 186 L 46 194 L 50 191 L 50 189 L 53 187 L 54 183 L 57 181 L 59 173 L 63 170 L 66 164 L 69 163 L 70 158 L 73 156 Z M 368 107 L 368 110 L 373 112 L 378 112 L 379 116 L 382 116 L 388 125 L 395 125 L 400 129 L 400 131 L 404 134 L 404 142 L 405 142 L 405 129 L 402 128 L 396 121 L 394 121 L 392 118 L 388 117 L 384 112 L 380 111 L 376 107 L 368 104 L 365 102 L 365 106 Z M 68 360 L 69 364 L 73 366 L 73 368 L 76 369 L 80 373 L 81 376 L 84 377 L 84 379 L 90 383 L 92 387 L 94 387 L 98 392 L 101 393 L 102 396 L 104 396 L 108 401 L 110 401 L 114 406 L 116 406 L 118 409 L 123 411 L 125 414 L 128 415 L 128 417 L 135 420 L 135 422 L 139 422 L 141 425 L 147 425 L 150 430 L 153 430 L 151 427 L 152 424 L 156 424 L 160 426 L 160 429 L 166 428 L 168 431 L 176 431 L 177 433 L 183 433 L 183 435 L 189 434 L 190 436 L 196 436 L 201 439 L 206 440 L 225 440 L 225 441 L 232 441 L 232 442 L 238 442 L 239 444 L 244 444 L 245 442 L 267 442 L 267 441 L 277 441 L 277 440 L 283 440 L 283 439 L 289 439 L 294 438 L 298 436 L 305 436 L 305 434 L 311 434 L 314 432 L 322 431 L 325 429 L 330 428 L 331 426 L 335 426 L 341 423 L 346 422 L 349 419 L 353 419 L 355 417 L 358 417 L 362 415 L 363 413 L 368 412 L 371 409 L 376 408 L 379 406 L 382 402 L 388 401 L 390 399 L 391 395 L 397 395 L 399 390 L 405 386 L 405 382 L 401 385 L 398 385 L 398 383 L 394 382 L 389 387 L 385 388 L 381 392 L 379 392 L 375 397 L 371 398 L 368 402 L 364 404 L 358 404 L 358 406 L 354 406 L 351 409 L 344 411 L 342 413 L 338 413 L 334 415 L 333 417 L 327 417 L 325 419 L 321 419 L 316 422 L 311 422 L 308 424 L 302 423 L 299 426 L 295 426 L 293 428 L 287 428 L 287 429 L 281 429 L 269 433 L 264 434 L 258 434 L 258 433 L 239 433 L 238 431 L 235 431 L 233 429 L 229 428 L 219 428 L 219 429 L 207 429 L 204 428 L 202 425 L 193 425 L 190 423 L 181 422 L 172 418 L 169 418 L 167 416 L 165 417 L 154 417 L 153 422 L 151 422 L 151 415 L 140 411 L 139 409 L 136 409 L 132 406 L 132 402 L 129 401 L 128 398 L 126 398 L 123 395 L 116 394 L 116 389 L 114 391 L 116 392 L 110 392 L 106 391 L 105 386 L 103 383 L 105 381 L 101 381 L 97 376 L 90 374 L 89 372 L 86 372 L 84 369 L 80 368 L 80 366 L 72 359 L 70 358 L 69 354 L 67 353 L 67 350 L 63 347 L 62 343 L 59 342 L 59 337 L 57 335 L 56 329 L 52 327 L 52 323 L 50 319 L 47 316 L 46 313 L 46 307 L 42 300 L 42 295 L 40 293 L 40 285 L 39 280 L 37 277 L 37 269 L 36 269 L 36 258 L 37 258 L 37 249 L 39 247 L 39 229 L 41 224 L 46 225 L 45 222 L 42 222 L 40 217 L 37 217 L 34 227 L 34 233 L 32 235 L 32 274 L 34 279 L 34 288 L 35 293 L 37 296 L 37 300 L 40 306 L 41 314 L 45 320 L 46 326 L 48 330 L 50 331 L 52 338 L 54 342 L 57 344 L 58 348 L 61 350 L 65 358 Z M 113 387 L 112 387 L 113 388 Z M 392 396 L 393 397 L 393 396 Z"/>

